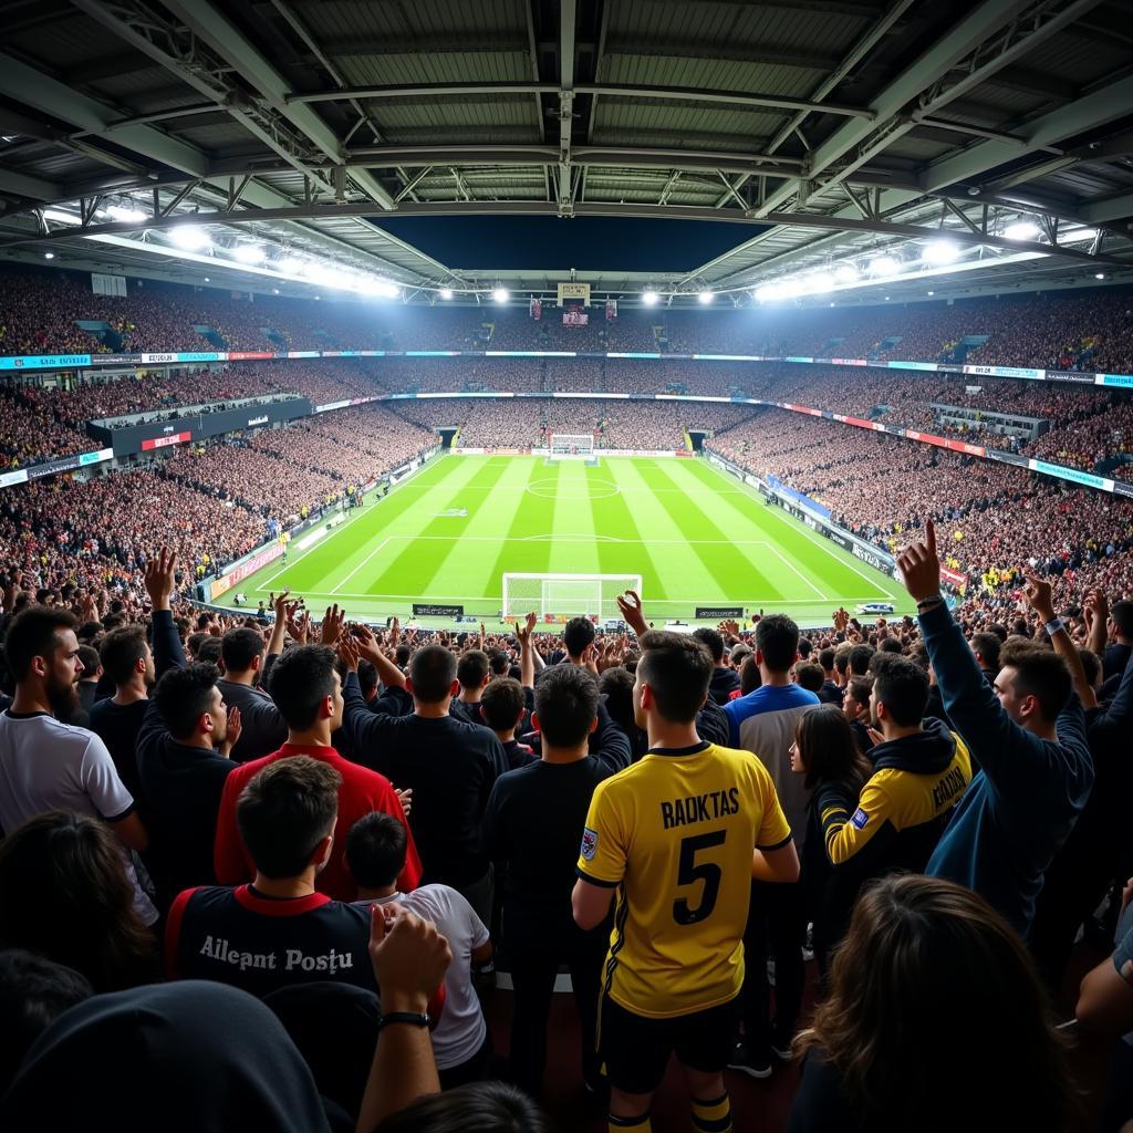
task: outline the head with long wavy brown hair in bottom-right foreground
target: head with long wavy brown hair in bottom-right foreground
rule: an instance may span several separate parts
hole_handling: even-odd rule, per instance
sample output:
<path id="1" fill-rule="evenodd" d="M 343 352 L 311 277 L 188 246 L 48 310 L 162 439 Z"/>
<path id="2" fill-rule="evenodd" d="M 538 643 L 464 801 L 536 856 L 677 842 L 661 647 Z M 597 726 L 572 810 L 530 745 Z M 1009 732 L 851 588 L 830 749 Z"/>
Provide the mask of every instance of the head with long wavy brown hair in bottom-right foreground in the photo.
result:
<path id="1" fill-rule="evenodd" d="M 973 1033 L 973 1019 L 1010 1020 L 1010 1041 L 998 1028 Z M 1011 926 L 952 881 L 898 874 L 862 891 L 801 1045 L 821 1048 L 866 1121 L 1068 1127 L 1068 1072 L 1034 965 Z M 939 1068 L 960 1047 L 966 1088 L 942 1091 Z"/>

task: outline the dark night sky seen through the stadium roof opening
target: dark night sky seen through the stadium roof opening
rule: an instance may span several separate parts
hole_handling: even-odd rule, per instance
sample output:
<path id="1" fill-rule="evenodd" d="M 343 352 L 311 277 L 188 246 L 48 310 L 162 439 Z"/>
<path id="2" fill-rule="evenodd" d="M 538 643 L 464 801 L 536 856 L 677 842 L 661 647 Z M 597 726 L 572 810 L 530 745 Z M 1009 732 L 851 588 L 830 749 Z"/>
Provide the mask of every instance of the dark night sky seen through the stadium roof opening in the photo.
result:
<path id="1" fill-rule="evenodd" d="M 449 267 L 689 272 L 765 224 L 630 216 L 372 216 Z"/>

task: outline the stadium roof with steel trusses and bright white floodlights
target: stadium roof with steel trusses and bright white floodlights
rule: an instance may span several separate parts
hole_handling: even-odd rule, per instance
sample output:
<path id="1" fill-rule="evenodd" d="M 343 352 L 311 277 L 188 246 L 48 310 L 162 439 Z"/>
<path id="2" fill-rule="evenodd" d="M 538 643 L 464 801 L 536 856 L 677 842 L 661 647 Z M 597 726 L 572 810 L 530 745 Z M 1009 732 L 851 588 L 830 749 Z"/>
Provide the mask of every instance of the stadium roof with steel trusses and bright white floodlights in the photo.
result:
<path id="1" fill-rule="evenodd" d="M 598 295 L 796 298 L 811 279 L 819 301 L 847 259 L 847 301 L 1133 280 L 1124 0 L 0 10 L 0 256 L 290 293 L 320 262 L 407 298 L 545 295 L 577 269 Z M 426 250 L 444 219 L 489 214 L 563 218 L 580 249 L 602 248 L 590 216 L 734 238 L 666 270 Z M 193 215 L 203 250 L 170 241 Z M 896 264 L 871 272 L 881 253 Z"/>

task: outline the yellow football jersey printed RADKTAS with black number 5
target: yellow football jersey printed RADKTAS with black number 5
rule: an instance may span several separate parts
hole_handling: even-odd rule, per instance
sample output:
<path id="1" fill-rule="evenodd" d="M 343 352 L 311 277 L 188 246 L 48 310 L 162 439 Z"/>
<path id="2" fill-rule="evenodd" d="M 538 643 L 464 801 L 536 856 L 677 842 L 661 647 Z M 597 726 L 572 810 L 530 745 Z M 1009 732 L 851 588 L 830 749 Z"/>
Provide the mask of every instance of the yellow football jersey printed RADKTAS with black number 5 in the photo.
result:
<path id="1" fill-rule="evenodd" d="M 610 997 L 668 1019 L 739 995 L 751 852 L 790 840 L 775 784 L 748 751 L 654 749 L 599 783 L 578 875 L 617 888 Z"/>

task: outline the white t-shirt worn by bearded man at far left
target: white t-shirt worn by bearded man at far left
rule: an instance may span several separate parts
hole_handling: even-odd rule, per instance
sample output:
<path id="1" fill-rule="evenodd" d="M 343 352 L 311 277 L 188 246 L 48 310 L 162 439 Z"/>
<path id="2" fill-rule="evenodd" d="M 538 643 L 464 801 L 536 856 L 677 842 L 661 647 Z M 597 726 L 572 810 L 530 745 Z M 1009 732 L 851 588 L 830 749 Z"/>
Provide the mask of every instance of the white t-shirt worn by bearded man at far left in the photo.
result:
<path id="1" fill-rule="evenodd" d="M 133 809 L 134 798 L 94 732 L 46 713 L 0 713 L 0 829 L 6 834 L 49 810 L 117 823 Z M 138 884 L 126 846 L 122 861 L 134 886 L 134 908 L 144 923 L 152 925 L 157 910 Z"/>

